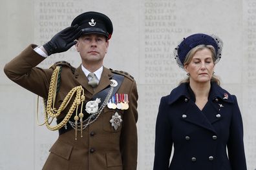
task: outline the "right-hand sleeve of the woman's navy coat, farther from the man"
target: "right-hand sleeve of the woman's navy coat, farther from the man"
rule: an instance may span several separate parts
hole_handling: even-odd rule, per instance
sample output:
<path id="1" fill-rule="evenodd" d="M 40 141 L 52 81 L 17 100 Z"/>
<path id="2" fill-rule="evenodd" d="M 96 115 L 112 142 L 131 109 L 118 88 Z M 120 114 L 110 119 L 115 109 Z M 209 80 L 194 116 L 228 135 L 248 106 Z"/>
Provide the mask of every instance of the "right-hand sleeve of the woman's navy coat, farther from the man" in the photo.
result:
<path id="1" fill-rule="evenodd" d="M 246 158 L 244 154 L 243 126 L 237 98 L 233 95 L 233 115 L 229 128 L 228 156 L 232 170 L 246 170 Z"/>

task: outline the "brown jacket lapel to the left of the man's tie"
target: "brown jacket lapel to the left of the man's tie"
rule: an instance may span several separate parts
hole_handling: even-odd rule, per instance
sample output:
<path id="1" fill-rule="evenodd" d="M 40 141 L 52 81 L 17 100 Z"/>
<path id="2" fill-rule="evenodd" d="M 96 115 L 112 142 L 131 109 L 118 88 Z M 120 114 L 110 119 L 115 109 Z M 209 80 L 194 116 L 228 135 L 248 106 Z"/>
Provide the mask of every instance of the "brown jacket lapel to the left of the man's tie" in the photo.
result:
<path id="1" fill-rule="evenodd" d="M 83 88 L 85 88 L 91 94 L 94 93 L 93 88 L 88 84 L 88 79 L 85 76 L 85 73 L 83 73 L 83 70 L 81 70 L 81 65 L 76 69 L 74 77 L 78 81 L 78 83 L 83 86 Z"/>

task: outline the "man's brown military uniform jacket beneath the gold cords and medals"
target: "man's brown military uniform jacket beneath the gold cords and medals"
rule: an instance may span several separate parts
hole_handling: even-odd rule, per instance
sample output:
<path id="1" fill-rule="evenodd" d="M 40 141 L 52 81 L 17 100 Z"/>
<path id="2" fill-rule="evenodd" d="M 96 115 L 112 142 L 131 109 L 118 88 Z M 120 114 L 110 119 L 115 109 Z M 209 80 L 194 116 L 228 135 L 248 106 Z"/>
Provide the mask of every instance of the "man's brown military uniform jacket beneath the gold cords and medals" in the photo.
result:
<path id="1" fill-rule="evenodd" d="M 49 69 L 37 68 L 37 64 L 45 57 L 34 52 L 36 45 L 28 46 L 16 58 L 6 64 L 5 73 L 23 88 L 47 99 L 48 87 L 52 71 L 56 64 Z M 103 68 L 100 82 L 94 90 L 88 85 L 88 79 L 81 70 L 72 68 L 70 64 L 62 64 L 61 85 L 56 96 L 56 106 L 59 105 L 67 93 L 76 86 L 82 86 L 85 90 L 85 102 L 89 101 L 92 95 L 107 88 L 111 82 L 113 72 Z M 129 96 L 129 109 L 103 109 L 100 117 L 83 130 L 83 137 L 75 140 L 74 129 L 59 135 L 55 144 L 50 148 L 50 155 L 45 162 L 43 169 L 50 170 L 135 170 L 137 165 L 137 129 L 138 120 L 137 100 L 138 93 L 136 82 L 128 73 L 118 72 L 125 76 L 122 85 L 116 93 L 125 93 Z M 104 100 L 104 99 L 103 99 Z M 103 102 L 101 99 L 101 102 Z M 63 110 L 58 118 L 63 118 L 70 108 Z M 109 120 L 112 115 L 118 112 L 123 122 L 117 130 L 111 126 Z"/>

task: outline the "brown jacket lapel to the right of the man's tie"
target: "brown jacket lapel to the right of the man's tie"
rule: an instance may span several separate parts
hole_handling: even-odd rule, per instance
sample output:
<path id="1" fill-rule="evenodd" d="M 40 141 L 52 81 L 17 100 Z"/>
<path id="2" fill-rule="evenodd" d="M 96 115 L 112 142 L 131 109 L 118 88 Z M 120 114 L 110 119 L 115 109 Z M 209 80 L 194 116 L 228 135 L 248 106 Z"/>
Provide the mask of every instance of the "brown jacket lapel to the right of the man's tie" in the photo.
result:
<path id="1" fill-rule="evenodd" d="M 111 84 L 111 77 L 113 77 L 113 73 L 111 70 L 103 67 L 103 71 L 101 73 L 100 82 L 98 86 L 94 89 L 94 94 L 99 93 L 101 90 L 104 90 Z"/>

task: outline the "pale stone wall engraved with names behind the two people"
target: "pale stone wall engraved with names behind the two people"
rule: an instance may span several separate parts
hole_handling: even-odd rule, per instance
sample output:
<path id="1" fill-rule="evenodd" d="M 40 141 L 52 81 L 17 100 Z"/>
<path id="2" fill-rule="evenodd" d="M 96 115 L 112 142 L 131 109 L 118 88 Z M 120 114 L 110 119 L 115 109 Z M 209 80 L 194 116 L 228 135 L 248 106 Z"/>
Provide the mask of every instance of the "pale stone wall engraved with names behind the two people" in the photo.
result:
<path id="1" fill-rule="evenodd" d="M 160 97 L 186 73 L 173 49 L 191 33 L 214 33 L 224 41 L 215 73 L 237 95 L 244 121 L 248 169 L 256 169 L 256 1 L 254 0 L 1 0 L 0 170 L 41 169 L 58 132 L 36 124 L 36 95 L 8 80 L 5 63 L 30 43 L 43 44 L 82 12 L 108 15 L 114 25 L 105 66 L 128 71 L 138 84 L 138 169 L 153 168 L 155 120 Z M 48 57 L 48 68 L 80 57 L 74 48 Z"/>

